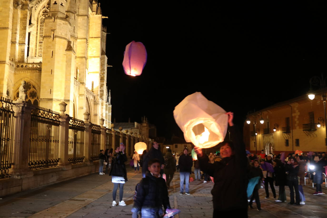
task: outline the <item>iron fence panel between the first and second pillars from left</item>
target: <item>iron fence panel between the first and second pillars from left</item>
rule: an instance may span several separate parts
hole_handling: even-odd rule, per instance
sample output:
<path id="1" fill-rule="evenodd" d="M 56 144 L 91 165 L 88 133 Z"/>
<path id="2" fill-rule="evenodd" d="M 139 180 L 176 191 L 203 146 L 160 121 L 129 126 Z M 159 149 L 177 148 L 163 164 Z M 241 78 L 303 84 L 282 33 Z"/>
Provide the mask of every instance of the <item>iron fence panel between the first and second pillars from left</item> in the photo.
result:
<path id="1" fill-rule="evenodd" d="M 32 170 L 58 165 L 59 126 L 59 113 L 41 107 L 32 110 L 28 161 Z"/>

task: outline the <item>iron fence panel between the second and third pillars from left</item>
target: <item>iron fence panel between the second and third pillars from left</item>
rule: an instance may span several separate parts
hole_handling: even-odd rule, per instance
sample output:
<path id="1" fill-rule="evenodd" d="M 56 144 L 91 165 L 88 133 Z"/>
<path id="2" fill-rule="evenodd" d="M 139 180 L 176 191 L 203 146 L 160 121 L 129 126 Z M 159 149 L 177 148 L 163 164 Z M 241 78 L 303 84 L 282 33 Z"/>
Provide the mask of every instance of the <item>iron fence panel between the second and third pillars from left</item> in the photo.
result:
<path id="1" fill-rule="evenodd" d="M 71 164 L 84 161 L 84 121 L 72 118 L 69 120 L 68 162 Z"/>

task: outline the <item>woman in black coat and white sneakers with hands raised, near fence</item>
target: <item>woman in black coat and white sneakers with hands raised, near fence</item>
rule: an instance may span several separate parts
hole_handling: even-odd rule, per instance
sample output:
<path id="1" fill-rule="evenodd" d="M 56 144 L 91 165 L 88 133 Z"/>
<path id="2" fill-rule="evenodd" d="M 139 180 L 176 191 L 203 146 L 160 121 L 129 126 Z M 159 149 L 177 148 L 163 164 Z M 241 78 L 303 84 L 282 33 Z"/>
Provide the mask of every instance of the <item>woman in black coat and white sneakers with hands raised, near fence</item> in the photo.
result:
<path id="1" fill-rule="evenodd" d="M 116 147 L 115 153 L 112 156 L 112 168 L 109 176 L 111 176 L 111 181 L 113 182 L 112 190 L 112 207 L 116 206 L 116 193 L 119 186 L 119 204 L 120 206 L 126 206 L 125 201 L 123 201 L 124 184 L 127 182 L 127 172 L 125 162 L 127 161 L 127 156 L 125 154 L 125 145 L 120 143 L 119 147 Z"/>

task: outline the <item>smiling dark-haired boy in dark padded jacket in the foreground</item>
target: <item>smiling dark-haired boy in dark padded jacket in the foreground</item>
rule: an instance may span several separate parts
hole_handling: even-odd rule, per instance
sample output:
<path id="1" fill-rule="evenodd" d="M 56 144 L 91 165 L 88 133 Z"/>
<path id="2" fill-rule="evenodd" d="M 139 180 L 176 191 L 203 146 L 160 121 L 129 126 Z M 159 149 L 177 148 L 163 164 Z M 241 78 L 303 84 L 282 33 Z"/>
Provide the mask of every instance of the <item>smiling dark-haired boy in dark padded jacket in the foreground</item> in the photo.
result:
<path id="1" fill-rule="evenodd" d="M 168 190 L 165 180 L 160 175 L 161 163 L 158 159 L 151 159 L 148 162 L 146 177 L 137 184 L 136 198 L 132 208 L 132 217 L 137 217 L 141 211 L 141 217 L 159 217 L 163 210 L 170 209 Z M 169 210 L 170 211 L 170 210 Z"/>

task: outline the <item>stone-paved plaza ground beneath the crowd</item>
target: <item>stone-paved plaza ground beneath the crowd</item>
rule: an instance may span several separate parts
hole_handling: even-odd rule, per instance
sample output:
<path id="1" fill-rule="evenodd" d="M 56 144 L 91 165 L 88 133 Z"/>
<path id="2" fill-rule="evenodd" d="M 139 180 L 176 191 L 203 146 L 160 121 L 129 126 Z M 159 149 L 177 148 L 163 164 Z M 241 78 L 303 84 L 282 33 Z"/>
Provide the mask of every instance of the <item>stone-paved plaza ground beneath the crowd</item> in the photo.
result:
<path id="1" fill-rule="evenodd" d="M 134 174 L 130 167 L 128 169 L 129 181 L 124 185 L 123 197 L 127 206 L 112 207 L 111 177 L 108 174 L 92 174 L 3 197 L 0 200 L 0 217 L 131 217 L 134 189 L 141 174 Z M 180 195 L 179 173 L 175 173 L 170 187 L 170 205 L 181 210 L 175 217 L 212 217 L 212 182 L 190 182 L 191 195 Z M 312 195 L 315 189 L 309 185 L 304 186 L 303 190 L 306 205 L 293 206 L 287 202 L 277 203 L 272 197 L 264 199 L 265 190 L 260 189 L 262 211 L 257 211 L 253 203 L 254 209 L 249 209 L 249 217 L 327 217 L 327 195 Z M 278 187 L 276 192 L 278 193 Z M 288 192 L 286 188 L 287 195 Z M 323 192 L 327 193 L 324 184 Z M 272 196 L 271 191 L 270 195 Z M 119 190 L 117 202 L 118 199 Z"/>

